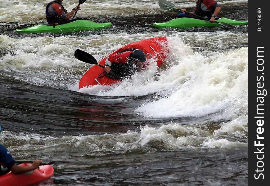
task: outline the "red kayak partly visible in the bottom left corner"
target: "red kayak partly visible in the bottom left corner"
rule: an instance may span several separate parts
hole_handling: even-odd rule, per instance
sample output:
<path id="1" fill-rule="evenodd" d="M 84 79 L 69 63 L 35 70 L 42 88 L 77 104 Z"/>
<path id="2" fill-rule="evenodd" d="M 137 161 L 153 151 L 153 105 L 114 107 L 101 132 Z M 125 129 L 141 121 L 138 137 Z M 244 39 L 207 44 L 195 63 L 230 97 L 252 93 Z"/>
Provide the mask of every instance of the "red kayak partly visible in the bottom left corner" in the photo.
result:
<path id="1" fill-rule="evenodd" d="M 32 163 L 21 163 L 18 166 L 30 166 Z M 41 183 L 53 175 L 53 167 L 50 165 L 39 166 L 23 174 L 13 174 L 11 171 L 0 176 L 1 186 L 23 186 L 35 183 Z"/>

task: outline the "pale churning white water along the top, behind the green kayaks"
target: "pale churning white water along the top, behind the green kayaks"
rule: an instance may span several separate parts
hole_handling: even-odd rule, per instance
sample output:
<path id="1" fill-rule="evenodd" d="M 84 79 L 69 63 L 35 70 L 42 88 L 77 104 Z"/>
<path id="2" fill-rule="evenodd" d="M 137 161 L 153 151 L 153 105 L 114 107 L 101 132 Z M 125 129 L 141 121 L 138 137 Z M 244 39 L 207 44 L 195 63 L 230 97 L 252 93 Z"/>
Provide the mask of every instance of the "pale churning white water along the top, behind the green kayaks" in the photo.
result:
<path id="1" fill-rule="evenodd" d="M 45 8 L 51 0 L 0 0 L 0 22 L 46 22 Z M 177 7 L 195 7 L 196 1 L 170 1 Z M 247 4 L 248 0 L 218 1 L 220 6 L 224 4 Z M 65 9 L 70 12 L 78 4 L 78 0 L 62 2 Z M 248 5 L 246 5 L 248 6 Z M 161 10 L 158 1 L 151 0 L 106 0 L 106 1 L 86 1 L 77 12 L 79 17 L 88 17 L 91 15 L 105 16 L 127 16 L 140 14 L 160 14 Z"/>

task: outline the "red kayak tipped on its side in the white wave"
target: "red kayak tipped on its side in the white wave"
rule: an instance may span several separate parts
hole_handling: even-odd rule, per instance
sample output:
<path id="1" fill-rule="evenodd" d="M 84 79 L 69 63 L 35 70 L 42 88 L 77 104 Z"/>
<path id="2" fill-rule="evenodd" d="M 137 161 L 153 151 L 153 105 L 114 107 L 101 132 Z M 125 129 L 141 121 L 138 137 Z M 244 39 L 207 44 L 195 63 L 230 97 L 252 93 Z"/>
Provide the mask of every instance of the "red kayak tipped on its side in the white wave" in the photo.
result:
<path id="1" fill-rule="evenodd" d="M 115 54 L 127 48 L 141 49 L 142 51 L 144 51 L 146 55 L 146 60 L 153 58 L 156 60 L 157 66 L 160 66 L 163 63 L 166 54 L 169 52 L 167 43 L 168 41 L 166 37 L 149 38 L 125 45 L 124 47 L 121 47 L 116 51 L 113 51 L 111 54 Z M 104 58 L 98 61 L 98 63 L 104 66 L 106 57 L 108 55 L 106 55 Z M 97 84 L 111 85 L 121 81 L 111 79 L 108 76 L 103 76 L 99 78 L 98 76 L 103 72 L 104 72 L 103 68 L 99 67 L 98 65 L 93 65 L 80 79 L 79 88 L 82 88 L 84 86 L 94 86 Z"/>

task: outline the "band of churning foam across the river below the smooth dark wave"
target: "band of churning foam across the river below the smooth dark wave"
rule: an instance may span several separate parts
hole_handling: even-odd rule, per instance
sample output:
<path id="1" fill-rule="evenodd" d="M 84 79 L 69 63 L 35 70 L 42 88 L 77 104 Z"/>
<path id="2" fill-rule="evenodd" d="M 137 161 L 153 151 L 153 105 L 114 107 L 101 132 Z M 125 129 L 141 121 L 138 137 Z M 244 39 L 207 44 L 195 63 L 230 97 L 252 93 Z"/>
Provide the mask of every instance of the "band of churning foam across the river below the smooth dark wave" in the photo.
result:
<path id="1" fill-rule="evenodd" d="M 238 121 L 237 121 L 238 120 Z M 242 120 L 242 121 L 239 121 Z M 35 153 L 50 149 L 64 149 L 83 151 L 91 156 L 127 153 L 132 151 L 154 152 L 157 149 L 177 150 L 182 148 L 237 148 L 247 147 L 248 143 L 238 141 L 245 138 L 247 126 L 239 123 L 247 122 L 245 117 L 222 124 L 221 128 L 212 131 L 209 125 L 179 125 L 171 123 L 160 128 L 147 125 L 141 127 L 140 132 L 127 131 L 123 134 L 78 135 L 51 137 L 45 135 L 23 134 L 3 131 L 0 139 L 10 151 L 33 149 Z M 226 135 L 224 135 L 226 133 Z M 9 140 L 5 140 L 9 139 Z M 52 152 L 53 153 L 56 152 Z M 57 151 L 58 153 L 58 151 Z M 81 154 L 83 155 L 83 154 Z M 19 155 L 18 155 L 19 156 Z"/>

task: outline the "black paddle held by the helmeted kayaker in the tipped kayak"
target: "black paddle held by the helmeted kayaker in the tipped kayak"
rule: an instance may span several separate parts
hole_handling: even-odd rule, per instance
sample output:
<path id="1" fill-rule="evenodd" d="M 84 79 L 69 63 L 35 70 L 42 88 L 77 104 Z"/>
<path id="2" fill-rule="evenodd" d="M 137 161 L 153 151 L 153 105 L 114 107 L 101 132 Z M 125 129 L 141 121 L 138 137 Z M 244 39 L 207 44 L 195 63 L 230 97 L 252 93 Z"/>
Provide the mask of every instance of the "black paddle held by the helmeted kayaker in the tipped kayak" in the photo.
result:
<path id="1" fill-rule="evenodd" d="M 94 56 L 92 56 L 91 54 L 85 52 L 85 51 L 82 51 L 80 49 L 77 49 L 75 52 L 74 52 L 74 56 L 75 58 L 77 58 L 78 60 L 80 61 L 83 61 L 85 63 L 88 63 L 88 64 L 96 64 L 98 66 L 100 66 L 101 68 L 105 68 L 103 65 L 99 64 L 96 60 L 96 58 Z M 117 79 L 121 79 L 119 76 L 115 75 L 114 73 L 112 73 L 111 71 L 109 72 L 109 74 L 113 75 L 115 78 Z"/>

